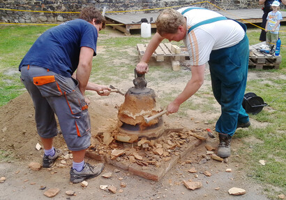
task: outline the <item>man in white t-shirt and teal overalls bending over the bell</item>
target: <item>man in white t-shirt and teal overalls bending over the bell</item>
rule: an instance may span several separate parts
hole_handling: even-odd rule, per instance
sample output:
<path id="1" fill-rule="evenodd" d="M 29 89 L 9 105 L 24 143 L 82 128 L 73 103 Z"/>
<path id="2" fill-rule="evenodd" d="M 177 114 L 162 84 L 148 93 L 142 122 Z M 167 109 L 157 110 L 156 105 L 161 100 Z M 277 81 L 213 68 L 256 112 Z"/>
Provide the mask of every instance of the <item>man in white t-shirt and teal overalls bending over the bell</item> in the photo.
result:
<path id="1" fill-rule="evenodd" d="M 248 114 L 242 107 L 249 56 L 246 26 L 205 8 L 187 7 L 163 10 L 156 27 L 156 34 L 136 66 L 137 72 L 149 71 L 149 59 L 164 39 L 184 41 L 190 54 L 192 77 L 167 106 L 167 114 L 170 114 L 176 113 L 181 103 L 200 89 L 205 64 L 209 62 L 213 94 L 222 112 L 216 123 L 220 138 L 218 156 L 229 157 L 230 141 L 236 129 L 250 126 Z"/>

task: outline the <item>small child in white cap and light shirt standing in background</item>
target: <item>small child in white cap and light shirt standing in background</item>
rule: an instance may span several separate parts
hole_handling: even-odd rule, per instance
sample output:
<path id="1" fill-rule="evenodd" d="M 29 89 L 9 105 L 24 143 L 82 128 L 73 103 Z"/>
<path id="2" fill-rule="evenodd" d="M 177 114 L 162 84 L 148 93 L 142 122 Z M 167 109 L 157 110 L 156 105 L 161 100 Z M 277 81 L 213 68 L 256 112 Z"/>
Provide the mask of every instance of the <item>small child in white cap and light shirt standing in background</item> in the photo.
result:
<path id="1" fill-rule="evenodd" d="M 266 31 L 266 45 L 269 45 L 270 49 L 273 49 L 273 44 L 276 44 L 278 40 L 278 31 L 280 27 L 280 20 L 282 20 L 282 14 L 280 13 L 279 1 L 273 1 L 271 4 L 272 11 L 268 13 L 267 22 L 265 26 Z"/>

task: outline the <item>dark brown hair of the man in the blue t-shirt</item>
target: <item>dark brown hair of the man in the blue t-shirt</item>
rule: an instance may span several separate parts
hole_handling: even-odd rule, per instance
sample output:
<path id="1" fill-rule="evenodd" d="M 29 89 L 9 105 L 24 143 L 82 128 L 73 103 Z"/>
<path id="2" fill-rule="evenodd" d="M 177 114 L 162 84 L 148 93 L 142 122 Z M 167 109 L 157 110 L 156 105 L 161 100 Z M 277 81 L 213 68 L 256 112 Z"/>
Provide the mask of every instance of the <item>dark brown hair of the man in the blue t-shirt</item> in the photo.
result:
<path id="1" fill-rule="evenodd" d="M 96 19 L 96 24 L 103 22 L 103 29 L 105 28 L 105 17 L 93 6 L 83 8 L 80 12 L 80 19 L 86 20 L 86 22 L 92 22 L 93 19 Z"/>

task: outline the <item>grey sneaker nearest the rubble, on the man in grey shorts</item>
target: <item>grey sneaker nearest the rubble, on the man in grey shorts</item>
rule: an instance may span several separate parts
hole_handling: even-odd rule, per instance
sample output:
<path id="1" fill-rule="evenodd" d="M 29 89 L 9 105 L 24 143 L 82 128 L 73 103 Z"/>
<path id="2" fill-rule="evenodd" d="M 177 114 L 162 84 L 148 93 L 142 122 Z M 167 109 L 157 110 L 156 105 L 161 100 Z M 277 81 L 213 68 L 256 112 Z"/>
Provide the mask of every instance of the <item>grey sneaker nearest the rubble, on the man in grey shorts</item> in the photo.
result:
<path id="1" fill-rule="evenodd" d="M 75 169 L 70 169 L 70 182 L 73 183 L 80 183 L 87 178 L 93 178 L 103 171 L 104 164 L 100 163 L 96 166 L 91 166 L 91 164 L 88 164 L 87 162 L 84 162 L 84 169 L 82 171 L 76 171 Z"/>

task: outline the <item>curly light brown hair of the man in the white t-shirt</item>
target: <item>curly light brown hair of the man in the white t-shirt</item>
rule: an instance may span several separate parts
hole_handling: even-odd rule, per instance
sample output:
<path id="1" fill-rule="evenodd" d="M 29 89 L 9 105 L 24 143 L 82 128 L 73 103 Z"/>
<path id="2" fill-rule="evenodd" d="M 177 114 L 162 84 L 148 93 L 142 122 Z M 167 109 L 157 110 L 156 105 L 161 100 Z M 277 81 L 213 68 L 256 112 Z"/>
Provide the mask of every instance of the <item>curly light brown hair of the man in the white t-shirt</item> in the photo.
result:
<path id="1" fill-rule="evenodd" d="M 183 25 L 183 23 L 183 15 L 172 8 L 168 8 L 163 10 L 157 17 L 157 32 L 161 36 L 164 34 L 175 34 L 178 31 L 178 27 Z"/>

